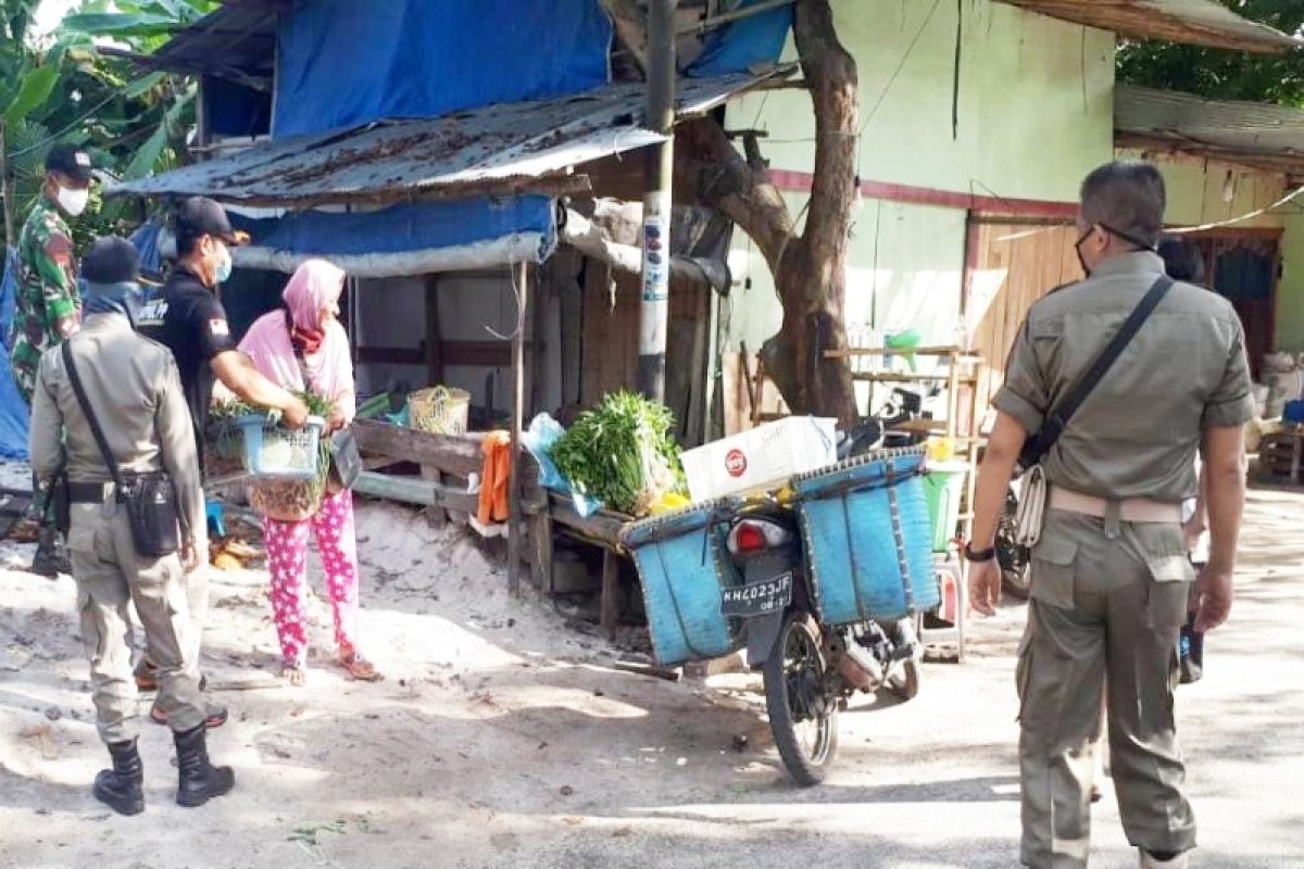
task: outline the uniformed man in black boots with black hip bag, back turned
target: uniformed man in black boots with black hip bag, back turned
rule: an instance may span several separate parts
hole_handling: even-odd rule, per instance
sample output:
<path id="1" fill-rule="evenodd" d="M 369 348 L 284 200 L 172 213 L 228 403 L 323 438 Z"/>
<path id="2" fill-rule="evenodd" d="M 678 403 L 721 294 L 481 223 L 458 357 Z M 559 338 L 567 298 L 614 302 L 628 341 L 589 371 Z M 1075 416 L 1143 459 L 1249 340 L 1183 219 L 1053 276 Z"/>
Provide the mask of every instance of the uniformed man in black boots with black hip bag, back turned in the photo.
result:
<path id="1" fill-rule="evenodd" d="M 158 664 L 159 704 L 168 713 L 180 770 L 177 803 L 202 805 L 235 783 L 230 767 L 209 763 L 203 701 L 189 658 L 194 628 L 181 582 L 184 571 L 193 571 L 206 548 L 200 463 L 172 356 L 133 330 L 140 301 L 137 262 L 136 250 L 121 238 L 91 245 L 85 259 L 86 323 L 68 348 L 121 478 L 158 472 L 171 477 L 180 558 L 138 552 L 113 472 L 82 412 L 60 349 L 42 357 L 31 414 L 37 474 L 50 481 L 67 460 L 69 547 L 82 640 L 99 735 L 112 757 L 112 769 L 95 778 L 94 793 L 121 814 L 145 808 L 136 748 L 137 693 L 126 642 L 128 603 L 136 605 L 150 657 Z"/>

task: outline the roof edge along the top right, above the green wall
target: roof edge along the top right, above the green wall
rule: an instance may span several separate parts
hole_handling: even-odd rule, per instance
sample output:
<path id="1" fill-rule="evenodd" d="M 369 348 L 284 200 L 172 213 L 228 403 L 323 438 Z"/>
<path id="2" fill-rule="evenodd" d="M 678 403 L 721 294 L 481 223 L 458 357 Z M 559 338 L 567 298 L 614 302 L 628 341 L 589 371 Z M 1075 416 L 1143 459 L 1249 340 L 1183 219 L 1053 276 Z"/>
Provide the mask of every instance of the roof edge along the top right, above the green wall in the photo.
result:
<path id="1" fill-rule="evenodd" d="M 1300 40 L 1241 18 L 1214 0 L 1004 0 L 1054 18 L 1112 30 L 1133 39 L 1282 53 Z"/>

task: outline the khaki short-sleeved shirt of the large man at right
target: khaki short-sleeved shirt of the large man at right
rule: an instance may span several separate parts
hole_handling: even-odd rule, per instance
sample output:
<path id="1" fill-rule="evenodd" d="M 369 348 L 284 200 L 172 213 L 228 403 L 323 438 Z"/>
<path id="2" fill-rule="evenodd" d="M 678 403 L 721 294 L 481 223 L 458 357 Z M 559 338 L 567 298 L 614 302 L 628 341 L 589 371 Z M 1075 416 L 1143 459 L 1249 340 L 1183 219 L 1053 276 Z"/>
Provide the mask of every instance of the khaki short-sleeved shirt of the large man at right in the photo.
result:
<path id="1" fill-rule="evenodd" d="M 996 409 L 1035 433 L 1162 274 L 1157 254 L 1123 254 L 1033 305 Z M 1253 418 L 1249 387 L 1231 302 L 1179 283 L 1043 459 L 1046 478 L 1101 498 L 1194 498 L 1201 433 Z"/>

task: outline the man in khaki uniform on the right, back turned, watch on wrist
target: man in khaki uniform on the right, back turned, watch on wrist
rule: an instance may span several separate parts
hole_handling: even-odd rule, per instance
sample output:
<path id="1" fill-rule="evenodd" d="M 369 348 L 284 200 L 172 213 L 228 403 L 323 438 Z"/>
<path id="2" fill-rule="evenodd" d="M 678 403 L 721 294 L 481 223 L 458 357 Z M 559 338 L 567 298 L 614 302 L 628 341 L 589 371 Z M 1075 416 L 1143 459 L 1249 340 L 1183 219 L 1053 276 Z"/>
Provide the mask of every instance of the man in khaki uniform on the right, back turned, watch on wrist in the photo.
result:
<path id="1" fill-rule="evenodd" d="M 1107 164 L 1082 185 L 1077 249 L 1089 278 L 1033 306 L 995 401 L 966 546 L 979 612 L 999 602 L 991 555 L 1020 451 L 1163 275 L 1163 178 L 1144 163 Z M 1017 668 L 1024 865 L 1088 865 L 1102 685 L 1128 840 L 1144 868 L 1188 865 L 1196 823 L 1172 713 L 1178 632 L 1192 580 L 1201 629 L 1231 610 L 1249 387 L 1231 304 L 1175 284 L 1042 459 L 1050 495 Z M 1198 578 L 1181 528 L 1197 448 L 1213 547 Z"/>

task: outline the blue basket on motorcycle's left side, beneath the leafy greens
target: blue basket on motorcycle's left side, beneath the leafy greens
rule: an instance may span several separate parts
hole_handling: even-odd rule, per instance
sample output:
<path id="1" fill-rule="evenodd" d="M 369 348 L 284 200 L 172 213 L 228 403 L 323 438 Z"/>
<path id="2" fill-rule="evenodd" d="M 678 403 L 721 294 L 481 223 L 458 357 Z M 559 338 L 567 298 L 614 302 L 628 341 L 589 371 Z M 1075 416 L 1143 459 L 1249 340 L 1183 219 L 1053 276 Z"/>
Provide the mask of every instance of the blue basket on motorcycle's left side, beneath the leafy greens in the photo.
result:
<path id="1" fill-rule="evenodd" d="M 741 584 L 725 554 L 722 504 L 709 502 L 630 525 L 656 658 L 665 666 L 721 658 L 742 648 L 741 623 L 720 614 L 721 589 Z"/>

